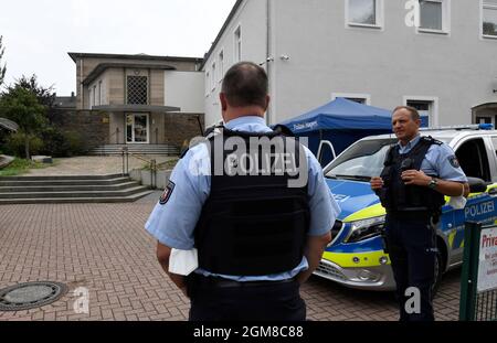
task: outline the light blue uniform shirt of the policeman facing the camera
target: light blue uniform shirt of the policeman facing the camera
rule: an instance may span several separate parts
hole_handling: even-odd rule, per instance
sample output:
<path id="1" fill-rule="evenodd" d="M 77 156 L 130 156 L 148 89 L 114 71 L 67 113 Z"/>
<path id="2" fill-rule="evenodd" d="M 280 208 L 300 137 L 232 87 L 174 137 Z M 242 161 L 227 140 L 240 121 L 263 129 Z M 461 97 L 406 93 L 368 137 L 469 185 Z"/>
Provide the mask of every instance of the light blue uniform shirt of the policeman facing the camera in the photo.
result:
<path id="1" fill-rule="evenodd" d="M 421 139 L 421 135 L 417 135 L 405 146 L 398 142 L 399 153 L 404 154 L 411 151 Z M 446 143 L 432 144 L 426 152 L 423 161 L 421 162 L 421 170 L 426 175 L 437 175 L 438 179 L 456 182 L 467 182 L 466 174 L 463 169 L 454 161 L 455 153 Z"/>

